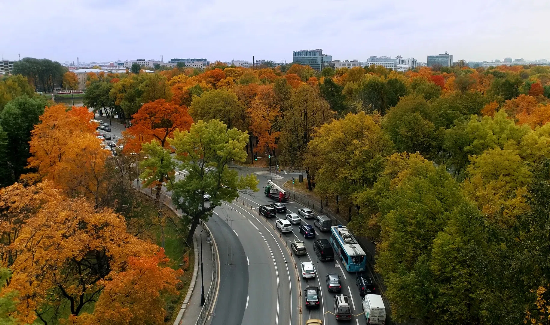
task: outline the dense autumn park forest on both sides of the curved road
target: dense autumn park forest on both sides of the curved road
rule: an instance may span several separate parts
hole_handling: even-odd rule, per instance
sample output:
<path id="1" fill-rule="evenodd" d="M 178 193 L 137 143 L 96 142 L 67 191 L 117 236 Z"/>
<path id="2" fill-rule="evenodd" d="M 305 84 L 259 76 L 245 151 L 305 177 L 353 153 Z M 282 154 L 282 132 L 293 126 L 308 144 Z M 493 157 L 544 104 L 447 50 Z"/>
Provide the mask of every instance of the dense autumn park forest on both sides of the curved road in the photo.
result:
<path id="1" fill-rule="evenodd" d="M 189 239 L 187 226 L 211 213 L 202 193 L 220 187 L 200 170 L 198 187 L 175 182 L 174 169 L 204 158 L 222 173 L 225 161 L 267 153 L 306 170 L 310 191 L 376 243 L 394 321 L 550 324 L 550 67 L 319 73 L 216 62 L 91 73 L 84 104 L 128 126 L 113 157 L 93 113 L 35 94 L 74 87 L 74 76 L 26 60 L 0 79 L 0 321 L 162 321 L 182 271 L 140 236 L 148 221 L 131 206 L 136 159 L 156 202 L 162 182 L 189 202 L 178 208 L 190 221 L 177 227 Z M 221 162 L 190 149 L 201 137 L 236 154 Z M 214 205 L 257 190 L 253 176 L 223 174 L 233 188 Z M 140 283 L 146 272 L 152 283 Z"/>

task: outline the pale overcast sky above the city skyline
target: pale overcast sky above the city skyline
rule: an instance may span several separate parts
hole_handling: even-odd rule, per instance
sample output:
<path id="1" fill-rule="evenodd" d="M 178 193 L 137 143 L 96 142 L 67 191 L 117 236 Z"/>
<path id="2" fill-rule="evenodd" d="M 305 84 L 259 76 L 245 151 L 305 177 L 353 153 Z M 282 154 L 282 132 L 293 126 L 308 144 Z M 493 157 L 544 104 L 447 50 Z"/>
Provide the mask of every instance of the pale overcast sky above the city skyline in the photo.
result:
<path id="1" fill-rule="evenodd" d="M 0 0 L 6 59 L 550 59 L 548 0 Z"/>

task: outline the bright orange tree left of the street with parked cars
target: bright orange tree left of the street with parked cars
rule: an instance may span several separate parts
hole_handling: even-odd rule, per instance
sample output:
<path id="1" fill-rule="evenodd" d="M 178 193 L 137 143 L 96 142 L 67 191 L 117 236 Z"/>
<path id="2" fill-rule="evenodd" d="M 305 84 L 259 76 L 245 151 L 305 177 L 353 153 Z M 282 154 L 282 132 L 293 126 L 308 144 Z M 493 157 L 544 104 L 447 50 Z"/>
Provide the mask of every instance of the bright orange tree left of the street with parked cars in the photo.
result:
<path id="1" fill-rule="evenodd" d="M 42 123 L 31 132 L 29 167 L 38 172 L 22 178 L 50 180 L 69 197 L 92 198 L 97 207 L 105 194 L 103 166 L 109 153 L 100 146 L 93 117 L 86 107 L 46 107 Z"/>

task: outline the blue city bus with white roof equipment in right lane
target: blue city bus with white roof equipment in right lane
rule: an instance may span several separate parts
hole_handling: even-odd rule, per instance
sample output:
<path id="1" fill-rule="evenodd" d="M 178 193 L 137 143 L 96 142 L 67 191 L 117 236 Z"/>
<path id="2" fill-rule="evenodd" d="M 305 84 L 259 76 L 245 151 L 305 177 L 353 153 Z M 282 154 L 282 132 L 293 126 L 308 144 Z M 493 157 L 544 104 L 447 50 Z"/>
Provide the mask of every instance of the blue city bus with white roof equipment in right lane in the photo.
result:
<path id="1" fill-rule="evenodd" d="M 365 251 L 351 236 L 348 228 L 338 225 L 331 227 L 331 245 L 334 253 L 342 260 L 342 264 L 349 272 L 362 272 L 365 270 Z"/>

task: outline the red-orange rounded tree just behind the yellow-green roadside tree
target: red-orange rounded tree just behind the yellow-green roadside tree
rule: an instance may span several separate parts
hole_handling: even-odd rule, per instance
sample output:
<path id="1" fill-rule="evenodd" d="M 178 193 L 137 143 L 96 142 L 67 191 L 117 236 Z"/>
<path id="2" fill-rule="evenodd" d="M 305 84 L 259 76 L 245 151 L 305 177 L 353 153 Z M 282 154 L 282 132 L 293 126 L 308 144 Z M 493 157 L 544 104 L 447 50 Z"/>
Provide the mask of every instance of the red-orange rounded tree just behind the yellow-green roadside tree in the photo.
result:
<path id="1" fill-rule="evenodd" d="M 125 152 L 139 153 L 141 144 L 153 139 L 158 140 L 163 148 L 167 148 L 166 139 L 172 137 L 175 129 L 189 130 L 193 123 L 187 107 L 164 99 L 142 105 L 133 118 L 132 126 L 123 132 Z"/>

